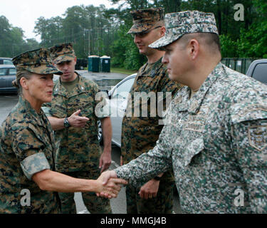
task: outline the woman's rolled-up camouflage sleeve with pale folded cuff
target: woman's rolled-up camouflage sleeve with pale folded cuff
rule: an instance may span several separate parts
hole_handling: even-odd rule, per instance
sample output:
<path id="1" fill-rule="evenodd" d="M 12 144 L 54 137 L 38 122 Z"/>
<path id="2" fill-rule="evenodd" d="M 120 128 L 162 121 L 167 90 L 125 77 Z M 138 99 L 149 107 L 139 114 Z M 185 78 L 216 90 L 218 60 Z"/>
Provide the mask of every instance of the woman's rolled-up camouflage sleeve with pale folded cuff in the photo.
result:
<path id="1" fill-rule="evenodd" d="M 51 167 L 43 153 L 45 145 L 36 137 L 34 130 L 18 126 L 13 126 L 11 130 L 13 138 L 11 147 L 28 180 L 31 180 L 37 172 L 50 170 Z"/>

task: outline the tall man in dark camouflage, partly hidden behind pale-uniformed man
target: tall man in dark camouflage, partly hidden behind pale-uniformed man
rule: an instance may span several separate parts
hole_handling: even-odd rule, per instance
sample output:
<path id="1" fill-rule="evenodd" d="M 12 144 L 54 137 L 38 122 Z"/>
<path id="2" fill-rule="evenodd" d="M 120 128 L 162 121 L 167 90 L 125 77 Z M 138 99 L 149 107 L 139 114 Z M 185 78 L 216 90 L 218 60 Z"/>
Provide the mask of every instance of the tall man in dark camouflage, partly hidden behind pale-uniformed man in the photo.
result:
<path id="1" fill-rule="evenodd" d="M 122 162 L 127 164 L 136 157 L 152 149 L 159 137 L 163 125 L 161 118 L 152 113 L 157 109 L 159 98 L 152 102 L 152 98 L 142 98 L 142 105 L 147 105 L 147 117 L 143 117 L 142 108 L 135 107 L 135 93 L 174 93 L 181 88 L 178 83 L 170 81 L 166 68 L 162 64 L 163 51 L 149 48 L 148 45 L 164 36 L 164 10 L 142 9 L 131 11 L 133 26 L 128 33 L 134 36 L 135 44 L 140 54 L 147 56 L 147 63 L 137 73 L 134 85 L 130 90 L 131 100 L 127 103 L 127 113 L 122 120 Z M 145 101 L 145 102 L 144 102 Z M 135 110 L 140 110 L 140 116 L 135 116 Z M 164 102 L 164 109 L 166 103 Z M 130 113 L 130 115 L 129 115 Z M 163 175 L 163 176 L 162 176 Z M 174 177 L 172 172 L 162 173 L 141 188 L 136 189 L 131 185 L 126 187 L 127 213 L 128 214 L 168 214 L 172 213 Z"/>

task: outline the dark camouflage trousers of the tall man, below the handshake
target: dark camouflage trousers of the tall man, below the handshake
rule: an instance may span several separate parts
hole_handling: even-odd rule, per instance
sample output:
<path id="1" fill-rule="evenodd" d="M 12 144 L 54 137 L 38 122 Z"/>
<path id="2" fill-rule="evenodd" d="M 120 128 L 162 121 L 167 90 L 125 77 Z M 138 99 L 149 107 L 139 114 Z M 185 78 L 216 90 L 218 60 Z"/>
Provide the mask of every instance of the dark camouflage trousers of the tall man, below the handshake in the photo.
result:
<path id="1" fill-rule="evenodd" d="M 127 214 L 172 214 L 174 182 L 161 180 L 157 197 L 142 199 L 140 189 L 126 186 Z"/>

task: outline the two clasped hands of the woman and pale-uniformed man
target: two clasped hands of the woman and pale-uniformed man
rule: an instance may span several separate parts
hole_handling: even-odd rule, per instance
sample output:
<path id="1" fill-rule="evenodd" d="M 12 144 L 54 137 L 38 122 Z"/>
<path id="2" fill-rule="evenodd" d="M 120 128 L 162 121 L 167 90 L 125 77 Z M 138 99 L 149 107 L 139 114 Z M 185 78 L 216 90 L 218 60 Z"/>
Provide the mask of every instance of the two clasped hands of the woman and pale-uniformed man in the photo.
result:
<path id="1" fill-rule="evenodd" d="M 100 177 L 98 177 L 98 189 L 96 195 L 98 197 L 105 197 L 108 199 L 116 198 L 120 192 L 121 185 L 127 185 L 126 180 L 117 178 L 116 172 L 114 170 L 103 172 Z"/>

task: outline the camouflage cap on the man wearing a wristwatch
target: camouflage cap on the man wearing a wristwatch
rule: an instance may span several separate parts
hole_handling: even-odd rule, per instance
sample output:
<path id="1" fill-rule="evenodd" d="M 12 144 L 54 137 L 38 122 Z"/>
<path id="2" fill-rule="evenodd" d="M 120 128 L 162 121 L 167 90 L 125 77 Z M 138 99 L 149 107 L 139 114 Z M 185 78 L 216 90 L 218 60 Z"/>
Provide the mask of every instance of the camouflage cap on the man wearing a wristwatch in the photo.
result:
<path id="1" fill-rule="evenodd" d="M 53 63 L 58 64 L 75 59 L 75 51 L 72 43 L 62 43 L 50 48 Z"/>

